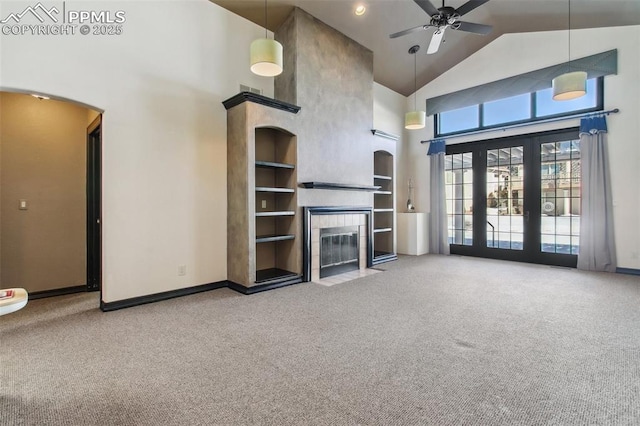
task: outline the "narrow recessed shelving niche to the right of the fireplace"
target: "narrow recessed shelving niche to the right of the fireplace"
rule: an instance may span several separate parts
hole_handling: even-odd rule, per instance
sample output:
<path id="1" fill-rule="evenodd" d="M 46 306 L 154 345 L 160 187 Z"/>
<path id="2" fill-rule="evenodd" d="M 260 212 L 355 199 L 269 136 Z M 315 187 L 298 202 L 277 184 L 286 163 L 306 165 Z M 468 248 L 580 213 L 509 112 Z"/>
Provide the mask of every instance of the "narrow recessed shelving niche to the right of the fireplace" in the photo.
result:
<path id="1" fill-rule="evenodd" d="M 373 154 L 373 264 L 397 259 L 394 251 L 393 155 L 386 151 Z"/>

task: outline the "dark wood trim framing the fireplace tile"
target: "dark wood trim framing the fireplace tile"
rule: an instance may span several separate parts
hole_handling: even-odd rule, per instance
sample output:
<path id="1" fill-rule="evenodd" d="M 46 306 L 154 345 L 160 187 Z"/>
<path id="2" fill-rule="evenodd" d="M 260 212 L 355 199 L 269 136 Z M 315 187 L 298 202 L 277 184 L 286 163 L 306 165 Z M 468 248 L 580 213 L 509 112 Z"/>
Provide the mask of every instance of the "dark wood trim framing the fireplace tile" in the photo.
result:
<path id="1" fill-rule="evenodd" d="M 367 268 L 373 266 L 373 208 L 372 207 L 303 207 L 302 215 L 302 281 L 311 281 L 311 216 L 331 215 L 331 214 L 353 214 L 363 213 L 367 217 Z"/>

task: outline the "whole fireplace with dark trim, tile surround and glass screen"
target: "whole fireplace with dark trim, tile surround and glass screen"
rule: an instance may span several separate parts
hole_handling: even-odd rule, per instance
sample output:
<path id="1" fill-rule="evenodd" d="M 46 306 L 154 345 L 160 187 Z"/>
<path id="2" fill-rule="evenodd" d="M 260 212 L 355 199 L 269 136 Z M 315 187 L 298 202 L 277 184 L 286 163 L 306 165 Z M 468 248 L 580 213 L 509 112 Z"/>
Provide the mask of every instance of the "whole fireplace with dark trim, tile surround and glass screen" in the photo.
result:
<path id="1" fill-rule="evenodd" d="M 370 207 L 305 207 L 304 213 L 304 281 L 371 266 Z"/>

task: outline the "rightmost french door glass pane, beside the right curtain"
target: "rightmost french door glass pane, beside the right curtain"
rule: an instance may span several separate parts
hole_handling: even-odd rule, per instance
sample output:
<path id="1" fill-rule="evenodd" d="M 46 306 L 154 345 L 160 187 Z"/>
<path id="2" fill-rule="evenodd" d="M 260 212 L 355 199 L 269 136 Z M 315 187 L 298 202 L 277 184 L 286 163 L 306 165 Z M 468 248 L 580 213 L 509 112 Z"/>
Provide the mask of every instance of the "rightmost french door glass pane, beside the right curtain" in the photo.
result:
<path id="1" fill-rule="evenodd" d="M 580 247 L 580 142 L 540 146 L 540 250 L 578 254 Z"/>

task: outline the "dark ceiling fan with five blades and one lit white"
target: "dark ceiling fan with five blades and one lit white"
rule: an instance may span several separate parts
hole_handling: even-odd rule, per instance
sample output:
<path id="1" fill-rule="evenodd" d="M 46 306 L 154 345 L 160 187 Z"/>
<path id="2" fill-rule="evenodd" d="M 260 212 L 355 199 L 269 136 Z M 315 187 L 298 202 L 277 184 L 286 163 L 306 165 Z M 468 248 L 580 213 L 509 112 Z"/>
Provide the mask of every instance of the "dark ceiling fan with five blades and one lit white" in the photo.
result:
<path id="1" fill-rule="evenodd" d="M 466 13 L 471 12 L 478 6 L 481 6 L 489 0 L 469 0 L 457 9 L 444 5 L 442 0 L 442 7 L 436 8 L 429 0 L 413 0 L 418 6 L 420 6 L 431 17 L 428 24 L 419 25 L 417 27 L 409 28 L 404 31 L 391 34 L 390 38 L 402 37 L 403 35 L 411 34 L 416 31 L 422 31 L 429 28 L 435 28 L 431 42 L 427 48 L 427 54 L 436 53 L 440 48 L 440 43 L 444 37 L 444 31 L 447 28 L 458 31 L 466 31 L 474 34 L 486 35 L 491 32 L 493 27 L 491 25 L 474 24 L 472 22 L 464 22 L 459 19 Z"/>

